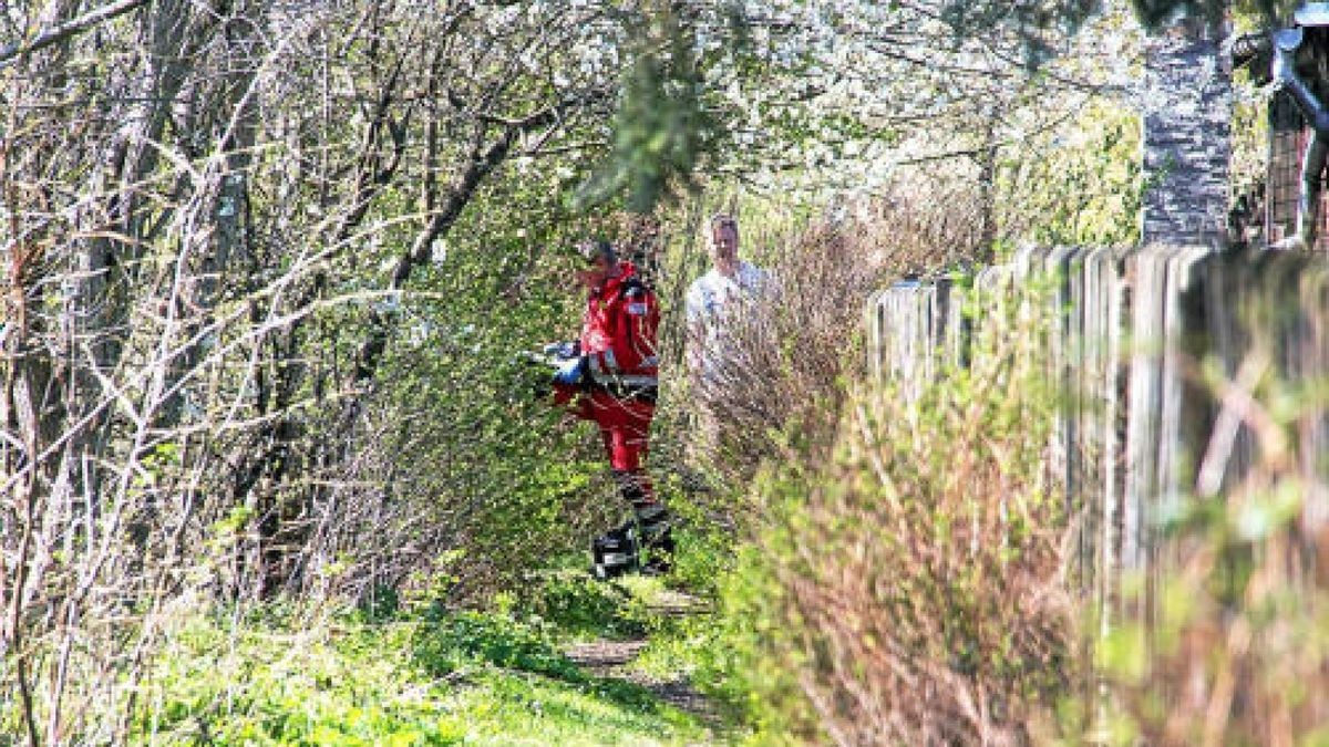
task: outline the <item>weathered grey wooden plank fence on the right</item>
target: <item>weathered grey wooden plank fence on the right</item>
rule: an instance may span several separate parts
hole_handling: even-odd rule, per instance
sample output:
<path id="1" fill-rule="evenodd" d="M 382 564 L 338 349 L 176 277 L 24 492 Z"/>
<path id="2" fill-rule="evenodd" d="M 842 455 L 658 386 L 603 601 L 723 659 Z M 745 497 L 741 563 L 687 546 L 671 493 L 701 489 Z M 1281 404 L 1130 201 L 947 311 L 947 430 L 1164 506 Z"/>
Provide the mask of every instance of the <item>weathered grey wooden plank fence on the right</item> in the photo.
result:
<path id="1" fill-rule="evenodd" d="M 1180 497 L 1219 493 L 1241 479 L 1256 443 L 1232 399 L 1203 381 L 1204 362 L 1228 380 L 1267 355 L 1293 385 L 1329 380 L 1329 262 L 1324 257 L 1207 249 L 1025 249 L 1010 265 L 965 282 L 904 282 L 868 304 L 869 366 L 904 395 L 940 367 L 981 355 L 969 344 L 981 319 L 966 314 L 973 288 L 1018 296 L 1053 324 L 1047 362 L 1065 383 L 1053 467 L 1082 521 L 1078 577 L 1116 617 L 1122 573 L 1148 572 L 1163 552 L 1159 518 Z M 981 311 L 979 311 L 981 314 Z M 1304 397 L 1294 437 L 1302 469 L 1329 475 L 1325 403 Z M 1305 496 L 1300 533 L 1313 542 L 1329 522 L 1329 496 Z M 1329 557 L 1304 548 L 1304 570 Z M 1150 605 L 1152 606 L 1152 605 Z"/>

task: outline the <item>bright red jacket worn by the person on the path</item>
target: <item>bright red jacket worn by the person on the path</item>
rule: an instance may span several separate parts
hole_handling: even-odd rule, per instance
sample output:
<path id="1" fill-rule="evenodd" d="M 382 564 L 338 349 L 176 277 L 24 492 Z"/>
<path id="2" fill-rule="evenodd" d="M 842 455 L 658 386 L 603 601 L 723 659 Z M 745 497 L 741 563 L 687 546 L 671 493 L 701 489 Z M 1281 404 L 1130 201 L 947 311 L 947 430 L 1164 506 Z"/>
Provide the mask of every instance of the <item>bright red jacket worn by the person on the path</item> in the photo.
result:
<path id="1" fill-rule="evenodd" d="M 654 385 L 659 304 L 631 262 L 619 262 L 618 270 L 586 299 L 581 352 L 598 384 Z"/>

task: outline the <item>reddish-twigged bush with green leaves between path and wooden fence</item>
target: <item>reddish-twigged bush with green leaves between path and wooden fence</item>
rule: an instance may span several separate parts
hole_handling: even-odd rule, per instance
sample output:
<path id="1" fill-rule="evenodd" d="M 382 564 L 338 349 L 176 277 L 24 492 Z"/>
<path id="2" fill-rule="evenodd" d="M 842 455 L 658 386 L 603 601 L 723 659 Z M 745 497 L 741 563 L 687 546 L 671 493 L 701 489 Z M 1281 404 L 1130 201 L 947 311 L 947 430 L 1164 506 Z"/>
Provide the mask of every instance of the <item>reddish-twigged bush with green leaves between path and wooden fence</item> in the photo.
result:
<path id="1" fill-rule="evenodd" d="M 1022 742 L 1071 682 L 1067 517 L 1043 469 L 1055 391 L 1037 328 L 981 330 L 993 350 L 971 368 L 917 400 L 863 385 L 833 459 L 767 473 L 777 520 L 727 589 L 723 667 L 760 727 Z"/>

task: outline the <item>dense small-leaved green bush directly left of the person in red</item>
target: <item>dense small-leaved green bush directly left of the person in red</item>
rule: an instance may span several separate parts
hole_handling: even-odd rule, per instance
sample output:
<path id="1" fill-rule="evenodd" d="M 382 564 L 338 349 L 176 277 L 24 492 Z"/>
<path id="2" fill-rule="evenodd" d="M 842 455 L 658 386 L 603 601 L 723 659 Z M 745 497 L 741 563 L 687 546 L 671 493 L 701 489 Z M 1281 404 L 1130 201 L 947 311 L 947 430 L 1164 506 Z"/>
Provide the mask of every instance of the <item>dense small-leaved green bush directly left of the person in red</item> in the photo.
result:
<path id="1" fill-rule="evenodd" d="M 447 576 L 453 599 L 484 597 L 599 522 L 611 489 L 598 481 L 598 444 L 550 407 L 549 372 L 521 358 L 577 331 L 581 295 L 550 246 L 578 226 L 541 213 L 549 195 L 504 186 L 496 199 L 541 219 L 517 229 L 506 211 L 468 215 L 401 300 L 401 334 L 354 433 L 361 456 L 310 550 L 339 560 L 335 591 L 363 598 Z"/>

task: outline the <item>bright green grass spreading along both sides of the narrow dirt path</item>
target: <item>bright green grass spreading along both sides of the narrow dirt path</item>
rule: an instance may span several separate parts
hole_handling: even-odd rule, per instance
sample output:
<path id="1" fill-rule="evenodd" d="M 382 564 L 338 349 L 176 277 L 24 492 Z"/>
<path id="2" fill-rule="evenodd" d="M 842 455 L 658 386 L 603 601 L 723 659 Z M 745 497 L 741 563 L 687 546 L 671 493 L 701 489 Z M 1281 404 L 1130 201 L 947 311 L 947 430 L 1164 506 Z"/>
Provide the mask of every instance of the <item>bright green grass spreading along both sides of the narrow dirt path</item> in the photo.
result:
<path id="1" fill-rule="evenodd" d="M 688 553 L 711 550 L 684 542 Z M 683 556 L 684 565 L 688 556 Z M 706 560 L 706 558 L 702 558 Z M 700 561 L 694 561 L 694 565 Z M 707 561 L 714 565 L 714 558 Z M 667 584 L 591 580 L 556 558 L 486 611 L 380 590 L 359 609 L 299 603 L 190 611 L 138 685 L 133 744 L 714 744 L 744 738 L 715 700 L 707 722 L 637 682 L 714 678 L 712 605 L 671 615 Z M 714 582 L 714 580 L 712 580 Z M 703 591 L 704 593 L 704 591 Z M 623 677 L 586 671 L 574 642 L 649 638 Z M 698 682 L 703 693 L 724 693 Z M 720 722 L 720 723 L 716 723 Z"/>

